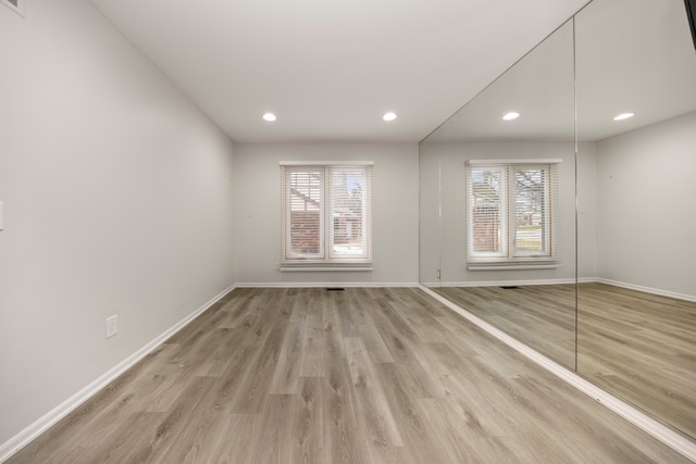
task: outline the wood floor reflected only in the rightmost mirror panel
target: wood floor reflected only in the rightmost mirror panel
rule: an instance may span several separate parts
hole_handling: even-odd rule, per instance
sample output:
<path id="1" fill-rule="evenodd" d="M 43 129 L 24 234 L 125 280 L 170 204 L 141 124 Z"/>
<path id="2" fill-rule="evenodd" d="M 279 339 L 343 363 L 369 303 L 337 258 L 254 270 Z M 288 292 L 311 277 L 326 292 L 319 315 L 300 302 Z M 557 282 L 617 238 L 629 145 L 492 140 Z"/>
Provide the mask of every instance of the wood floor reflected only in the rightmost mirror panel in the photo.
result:
<path id="1" fill-rule="evenodd" d="M 579 308 L 579 372 L 696 437 L 696 302 L 583 284 Z"/>

